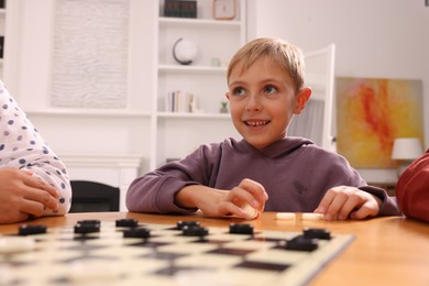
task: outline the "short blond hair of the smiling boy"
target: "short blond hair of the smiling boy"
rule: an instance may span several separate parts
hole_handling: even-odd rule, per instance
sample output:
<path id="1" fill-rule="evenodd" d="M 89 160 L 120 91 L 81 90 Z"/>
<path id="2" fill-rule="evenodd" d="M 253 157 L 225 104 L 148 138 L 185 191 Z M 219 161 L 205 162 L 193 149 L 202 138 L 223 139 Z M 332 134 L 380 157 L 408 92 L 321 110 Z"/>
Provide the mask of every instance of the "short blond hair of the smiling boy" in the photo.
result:
<path id="1" fill-rule="evenodd" d="M 232 57 L 228 66 L 228 81 L 231 70 L 239 63 L 242 63 L 242 69 L 246 70 L 257 59 L 263 57 L 272 59 L 274 64 L 279 65 L 289 74 L 296 92 L 304 87 L 305 63 L 301 50 L 286 41 L 275 37 L 255 38 L 242 46 Z"/>

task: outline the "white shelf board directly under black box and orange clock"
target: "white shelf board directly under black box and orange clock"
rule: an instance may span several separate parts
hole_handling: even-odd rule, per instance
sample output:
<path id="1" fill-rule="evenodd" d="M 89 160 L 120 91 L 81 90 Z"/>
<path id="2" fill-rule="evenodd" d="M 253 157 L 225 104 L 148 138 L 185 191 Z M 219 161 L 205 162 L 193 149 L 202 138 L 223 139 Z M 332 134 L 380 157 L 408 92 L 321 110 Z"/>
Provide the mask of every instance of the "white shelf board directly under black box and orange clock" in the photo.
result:
<path id="1" fill-rule="evenodd" d="M 240 21 L 229 21 L 229 20 L 209 20 L 209 19 L 183 19 L 183 18 L 160 18 L 160 26 L 176 26 L 176 28 L 229 28 L 229 29 L 240 29 Z"/>

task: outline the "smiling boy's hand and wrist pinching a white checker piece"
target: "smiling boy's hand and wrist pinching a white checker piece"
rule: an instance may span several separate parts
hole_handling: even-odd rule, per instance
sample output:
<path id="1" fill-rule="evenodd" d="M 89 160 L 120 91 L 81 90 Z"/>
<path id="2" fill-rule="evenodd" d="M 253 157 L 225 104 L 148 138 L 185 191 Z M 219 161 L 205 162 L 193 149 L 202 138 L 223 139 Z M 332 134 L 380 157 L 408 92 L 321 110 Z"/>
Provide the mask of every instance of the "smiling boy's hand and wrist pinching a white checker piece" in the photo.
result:
<path id="1" fill-rule="evenodd" d="M 268 195 L 264 187 L 252 179 L 243 179 L 231 190 L 193 185 L 183 188 L 176 195 L 177 205 L 186 208 L 198 208 L 208 217 L 233 215 L 245 218 L 246 212 L 242 208 L 244 205 L 250 205 L 260 215 L 264 210 L 267 199 Z"/>

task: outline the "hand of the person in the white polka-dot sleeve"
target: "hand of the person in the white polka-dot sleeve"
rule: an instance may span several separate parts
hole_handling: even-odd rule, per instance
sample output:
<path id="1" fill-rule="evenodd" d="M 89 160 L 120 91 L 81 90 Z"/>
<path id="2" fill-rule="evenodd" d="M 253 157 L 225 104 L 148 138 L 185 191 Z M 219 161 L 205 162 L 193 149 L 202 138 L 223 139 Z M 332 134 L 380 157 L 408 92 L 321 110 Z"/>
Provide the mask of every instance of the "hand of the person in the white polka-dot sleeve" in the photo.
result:
<path id="1" fill-rule="evenodd" d="M 40 217 L 44 209 L 58 209 L 57 190 L 31 172 L 0 168 L 0 223 Z"/>

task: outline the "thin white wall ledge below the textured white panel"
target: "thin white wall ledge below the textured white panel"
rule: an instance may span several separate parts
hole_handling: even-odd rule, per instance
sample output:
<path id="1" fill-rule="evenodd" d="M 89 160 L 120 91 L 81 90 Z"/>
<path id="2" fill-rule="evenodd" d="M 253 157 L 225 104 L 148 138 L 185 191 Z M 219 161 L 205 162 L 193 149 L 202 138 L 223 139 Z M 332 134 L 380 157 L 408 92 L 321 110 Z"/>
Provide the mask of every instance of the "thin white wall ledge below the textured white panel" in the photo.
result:
<path id="1" fill-rule="evenodd" d="M 52 117 L 116 117 L 116 118 L 150 118 L 150 112 L 136 112 L 128 110 L 113 110 L 113 109 L 44 109 L 44 110 L 25 110 L 28 116 L 52 116 Z"/>

